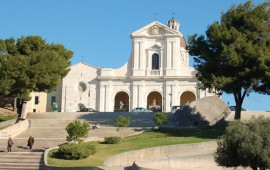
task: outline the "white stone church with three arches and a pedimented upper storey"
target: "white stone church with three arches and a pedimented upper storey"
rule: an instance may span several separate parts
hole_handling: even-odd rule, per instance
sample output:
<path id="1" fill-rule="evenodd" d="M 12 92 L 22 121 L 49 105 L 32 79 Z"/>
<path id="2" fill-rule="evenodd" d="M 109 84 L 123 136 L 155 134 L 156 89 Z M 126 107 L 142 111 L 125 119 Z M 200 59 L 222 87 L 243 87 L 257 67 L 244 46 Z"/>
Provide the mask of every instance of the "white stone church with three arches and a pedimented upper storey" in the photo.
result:
<path id="1" fill-rule="evenodd" d="M 177 20 L 172 18 L 167 25 L 154 21 L 130 37 L 131 56 L 122 67 L 94 67 L 83 62 L 70 67 L 55 96 L 50 95 L 61 112 L 82 107 L 131 111 L 153 105 L 169 112 L 172 106 L 214 95 L 197 87 L 196 70 L 189 66 L 187 44 Z"/>

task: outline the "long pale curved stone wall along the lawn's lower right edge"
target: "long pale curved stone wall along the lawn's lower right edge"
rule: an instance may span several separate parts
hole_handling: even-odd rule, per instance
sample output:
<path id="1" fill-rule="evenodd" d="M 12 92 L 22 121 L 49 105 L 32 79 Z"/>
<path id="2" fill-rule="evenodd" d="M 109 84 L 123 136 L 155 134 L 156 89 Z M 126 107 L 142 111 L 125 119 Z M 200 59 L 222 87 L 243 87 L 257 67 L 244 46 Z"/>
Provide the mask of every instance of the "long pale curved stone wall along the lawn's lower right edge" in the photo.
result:
<path id="1" fill-rule="evenodd" d="M 132 165 L 136 160 L 155 159 L 173 154 L 185 155 L 198 152 L 212 152 L 216 147 L 216 142 L 212 141 L 141 149 L 112 156 L 104 162 L 104 166 L 117 167 L 123 165 Z"/>

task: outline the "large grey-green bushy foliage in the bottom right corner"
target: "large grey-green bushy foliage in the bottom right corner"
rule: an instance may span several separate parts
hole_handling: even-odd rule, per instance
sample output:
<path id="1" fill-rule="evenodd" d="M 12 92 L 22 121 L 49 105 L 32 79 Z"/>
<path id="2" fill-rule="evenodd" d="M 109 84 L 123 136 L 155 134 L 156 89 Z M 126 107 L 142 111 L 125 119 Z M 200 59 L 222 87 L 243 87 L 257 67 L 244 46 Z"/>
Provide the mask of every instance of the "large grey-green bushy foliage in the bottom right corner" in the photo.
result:
<path id="1" fill-rule="evenodd" d="M 270 167 L 270 118 L 252 118 L 247 123 L 234 121 L 218 140 L 215 161 L 225 167 Z"/>

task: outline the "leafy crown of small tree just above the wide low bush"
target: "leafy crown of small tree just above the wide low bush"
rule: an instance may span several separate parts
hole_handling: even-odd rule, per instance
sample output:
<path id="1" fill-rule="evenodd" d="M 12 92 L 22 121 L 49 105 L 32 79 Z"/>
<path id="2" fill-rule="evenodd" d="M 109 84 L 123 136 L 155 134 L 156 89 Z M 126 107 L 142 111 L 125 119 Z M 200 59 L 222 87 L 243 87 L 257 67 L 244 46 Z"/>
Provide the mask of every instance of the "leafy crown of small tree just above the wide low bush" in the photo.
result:
<path id="1" fill-rule="evenodd" d="M 90 125 L 87 122 L 81 122 L 79 120 L 74 120 L 69 123 L 66 127 L 68 133 L 67 141 L 81 142 L 80 138 L 87 137 L 90 130 Z"/>

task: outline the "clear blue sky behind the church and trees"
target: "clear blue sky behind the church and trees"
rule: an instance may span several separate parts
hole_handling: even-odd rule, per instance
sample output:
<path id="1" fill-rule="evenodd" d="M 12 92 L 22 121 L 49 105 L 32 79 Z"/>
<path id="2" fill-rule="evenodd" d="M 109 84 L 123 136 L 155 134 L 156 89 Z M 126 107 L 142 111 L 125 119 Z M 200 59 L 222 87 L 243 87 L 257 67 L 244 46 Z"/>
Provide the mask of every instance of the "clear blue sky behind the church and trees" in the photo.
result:
<path id="1" fill-rule="evenodd" d="M 204 34 L 232 4 L 245 0 L 2 0 L 0 39 L 39 35 L 74 52 L 72 64 L 118 68 L 131 54 L 129 35 L 157 20 L 174 17 L 180 31 Z M 255 4 L 263 0 L 253 0 Z M 232 95 L 222 97 L 234 105 Z M 270 111 L 270 96 L 251 94 L 243 103 L 249 110 Z"/>

